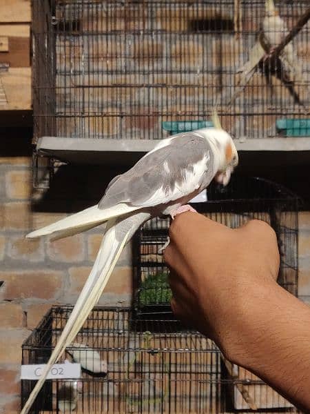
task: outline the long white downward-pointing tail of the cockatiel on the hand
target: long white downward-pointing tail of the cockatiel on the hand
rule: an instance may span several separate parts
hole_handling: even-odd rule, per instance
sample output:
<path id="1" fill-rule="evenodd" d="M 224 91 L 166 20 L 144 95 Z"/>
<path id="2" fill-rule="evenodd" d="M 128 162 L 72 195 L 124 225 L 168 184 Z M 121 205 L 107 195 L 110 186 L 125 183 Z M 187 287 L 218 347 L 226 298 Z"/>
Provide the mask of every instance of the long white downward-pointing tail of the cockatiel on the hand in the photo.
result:
<path id="1" fill-rule="evenodd" d="M 116 219 L 111 219 L 107 223 L 105 237 L 101 244 L 101 248 L 99 249 L 92 271 L 87 278 L 79 299 L 76 301 L 68 322 L 63 329 L 63 333 L 61 334 L 61 337 L 59 337 L 59 340 L 54 348 L 54 351 L 52 352 L 52 355 L 50 355 L 50 359 L 48 360 L 41 377 L 34 386 L 34 389 L 32 390 L 28 401 L 25 403 L 25 406 L 23 406 L 21 414 L 28 413 L 45 382 L 50 368 L 52 368 L 52 365 L 57 362 L 65 348 L 74 340 L 76 334 L 81 329 L 81 326 L 83 326 L 85 319 L 87 319 L 90 311 L 96 302 L 98 302 L 103 289 L 109 280 L 118 257 L 121 255 L 123 247 L 125 246 L 128 236 L 131 233 L 131 229 L 128 230 L 123 240 L 121 242 L 117 242 L 114 233 L 115 222 Z"/>

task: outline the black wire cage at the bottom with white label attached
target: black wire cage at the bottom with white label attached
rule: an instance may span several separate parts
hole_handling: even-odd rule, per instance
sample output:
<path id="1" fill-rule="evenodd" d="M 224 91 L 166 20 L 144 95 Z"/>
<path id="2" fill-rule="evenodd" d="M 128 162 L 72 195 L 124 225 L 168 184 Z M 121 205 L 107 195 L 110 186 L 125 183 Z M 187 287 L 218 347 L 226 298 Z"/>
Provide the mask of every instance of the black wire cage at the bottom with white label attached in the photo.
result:
<path id="1" fill-rule="evenodd" d="M 47 361 L 71 311 L 49 311 L 23 344 L 23 365 Z M 61 360 L 70 362 L 74 349 L 84 353 L 81 377 L 47 380 L 30 413 L 218 414 L 231 407 L 298 412 L 257 377 L 232 370 L 209 339 L 196 331 L 176 332 L 176 324 L 138 320 L 127 308 L 94 308 Z M 96 355 L 104 373 L 85 371 L 85 352 L 88 368 Z M 79 353 L 74 361 L 81 362 Z M 21 380 L 22 405 L 34 384 Z"/>

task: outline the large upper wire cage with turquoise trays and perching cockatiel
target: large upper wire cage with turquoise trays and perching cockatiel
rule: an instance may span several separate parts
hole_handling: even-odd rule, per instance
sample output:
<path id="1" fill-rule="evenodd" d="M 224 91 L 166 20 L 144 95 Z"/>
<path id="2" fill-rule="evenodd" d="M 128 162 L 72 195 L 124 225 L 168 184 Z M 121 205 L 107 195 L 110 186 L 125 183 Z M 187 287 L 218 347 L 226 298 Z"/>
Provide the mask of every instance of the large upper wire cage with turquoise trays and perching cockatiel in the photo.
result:
<path id="1" fill-rule="evenodd" d="M 309 0 L 34 0 L 35 181 L 51 167 L 39 156 L 97 139 L 142 145 L 185 122 L 208 125 L 214 107 L 237 138 L 309 135 L 308 8 Z M 278 55 L 266 55 L 296 27 Z"/>

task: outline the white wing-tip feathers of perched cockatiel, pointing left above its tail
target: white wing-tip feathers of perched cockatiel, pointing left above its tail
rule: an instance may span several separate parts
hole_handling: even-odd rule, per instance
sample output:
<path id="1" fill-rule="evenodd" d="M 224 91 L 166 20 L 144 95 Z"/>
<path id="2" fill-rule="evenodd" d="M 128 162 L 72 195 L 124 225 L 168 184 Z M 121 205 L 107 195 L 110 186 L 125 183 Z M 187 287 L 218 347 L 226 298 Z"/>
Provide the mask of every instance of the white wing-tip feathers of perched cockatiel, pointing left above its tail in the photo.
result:
<path id="1" fill-rule="evenodd" d="M 96 206 L 86 208 L 79 213 L 65 217 L 49 226 L 34 230 L 26 237 L 33 239 L 56 233 L 55 239 L 61 239 L 88 230 L 89 228 L 99 226 L 99 224 L 103 224 L 113 217 L 125 215 L 134 210 L 138 210 L 138 207 L 128 206 L 127 204 L 118 204 L 114 207 L 101 210 L 98 208 L 98 204 L 96 204 Z"/>

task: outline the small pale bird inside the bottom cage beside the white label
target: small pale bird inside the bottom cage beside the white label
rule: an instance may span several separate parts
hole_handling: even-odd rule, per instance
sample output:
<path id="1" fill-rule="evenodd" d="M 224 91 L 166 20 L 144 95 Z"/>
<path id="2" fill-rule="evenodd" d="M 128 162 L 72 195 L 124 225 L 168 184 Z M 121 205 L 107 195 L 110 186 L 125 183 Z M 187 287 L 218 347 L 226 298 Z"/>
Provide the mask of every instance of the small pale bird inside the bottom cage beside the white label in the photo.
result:
<path id="1" fill-rule="evenodd" d="M 107 375 L 107 362 L 94 348 L 85 344 L 72 342 L 70 348 L 65 350 L 74 362 L 81 364 L 81 368 L 89 373 Z"/>

